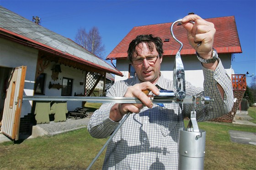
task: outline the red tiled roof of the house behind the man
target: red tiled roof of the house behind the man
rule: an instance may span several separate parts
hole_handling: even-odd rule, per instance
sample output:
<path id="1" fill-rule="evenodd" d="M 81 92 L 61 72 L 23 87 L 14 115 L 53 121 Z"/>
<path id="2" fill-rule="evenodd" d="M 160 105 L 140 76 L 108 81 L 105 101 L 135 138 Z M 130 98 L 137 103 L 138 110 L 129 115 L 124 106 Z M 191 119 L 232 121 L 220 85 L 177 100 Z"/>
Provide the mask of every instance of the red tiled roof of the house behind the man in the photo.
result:
<path id="1" fill-rule="evenodd" d="M 217 50 L 218 53 L 242 52 L 234 16 L 210 18 L 205 20 L 212 22 L 215 26 L 216 33 L 214 36 L 213 47 Z M 180 44 L 177 43 L 171 36 L 171 24 L 172 23 L 170 22 L 164 24 L 133 27 L 127 36 L 125 36 L 123 40 L 107 56 L 107 59 L 126 58 L 129 43 L 140 34 L 153 34 L 154 36 L 159 36 L 164 44 L 164 56 L 176 55 L 176 52 L 180 48 Z M 195 50 L 190 46 L 187 40 L 186 30 L 181 25 L 173 26 L 173 32 L 176 38 L 183 43 L 181 55 L 195 54 Z M 170 39 L 170 41 L 164 42 L 165 39 Z"/>

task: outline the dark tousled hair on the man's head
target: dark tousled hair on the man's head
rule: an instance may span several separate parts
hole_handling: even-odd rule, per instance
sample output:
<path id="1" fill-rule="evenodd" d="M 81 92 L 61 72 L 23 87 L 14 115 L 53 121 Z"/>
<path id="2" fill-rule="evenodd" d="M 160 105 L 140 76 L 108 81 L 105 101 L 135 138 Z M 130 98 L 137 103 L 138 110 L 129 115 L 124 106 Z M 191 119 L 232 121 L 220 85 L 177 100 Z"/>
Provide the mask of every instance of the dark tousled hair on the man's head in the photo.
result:
<path id="1" fill-rule="evenodd" d="M 127 52 L 128 52 L 128 59 L 130 60 L 130 62 L 132 62 L 133 52 L 136 52 L 135 50 L 136 46 L 138 46 L 138 44 L 141 42 L 145 42 L 148 45 L 150 51 L 153 51 L 153 48 L 154 48 L 153 44 L 155 44 L 155 48 L 159 54 L 159 57 L 163 57 L 163 53 L 164 53 L 163 42 L 160 37 L 157 37 L 157 36 L 154 37 L 152 34 L 139 35 L 129 44 L 129 48 Z M 136 54 L 138 53 L 136 52 Z"/>

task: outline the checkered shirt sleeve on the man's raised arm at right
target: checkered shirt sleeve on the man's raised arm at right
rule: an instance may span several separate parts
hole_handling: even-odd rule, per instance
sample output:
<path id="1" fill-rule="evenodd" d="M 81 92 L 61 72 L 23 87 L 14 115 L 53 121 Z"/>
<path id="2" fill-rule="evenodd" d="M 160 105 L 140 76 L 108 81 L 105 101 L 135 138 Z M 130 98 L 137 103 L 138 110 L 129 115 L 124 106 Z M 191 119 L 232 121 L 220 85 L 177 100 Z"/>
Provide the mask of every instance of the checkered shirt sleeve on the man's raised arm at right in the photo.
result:
<path id="1" fill-rule="evenodd" d="M 218 118 L 226 113 L 229 113 L 234 104 L 233 88 L 230 77 L 225 72 L 225 69 L 219 60 L 219 64 L 216 69 L 210 70 L 203 67 L 203 89 L 195 88 L 189 84 L 186 92 L 188 95 L 208 96 L 214 101 L 210 101 L 209 104 L 197 104 L 196 113 L 197 121 L 207 121 L 213 118 Z M 222 99 L 219 89 L 219 84 L 224 89 L 224 99 Z M 189 94 L 190 93 L 190 94 Z M 184 115 L 190 117 L 192 111 L 191 104 L 184 104 Z"/>

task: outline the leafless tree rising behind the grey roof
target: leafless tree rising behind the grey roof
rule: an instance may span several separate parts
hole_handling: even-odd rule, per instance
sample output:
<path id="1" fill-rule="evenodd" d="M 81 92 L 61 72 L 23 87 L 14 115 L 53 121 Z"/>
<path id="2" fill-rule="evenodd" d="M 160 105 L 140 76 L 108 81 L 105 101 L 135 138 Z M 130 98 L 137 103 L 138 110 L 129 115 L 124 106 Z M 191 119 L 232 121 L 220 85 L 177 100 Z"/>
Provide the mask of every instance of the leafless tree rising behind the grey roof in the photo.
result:
<path id="1" fill-rule="evenodd" d="M 84 28 L 78 29 L 75 42 L 83 46 L 89 52 L 103 58 L 105 46 L 102 45 L 101 36 L 97 27 L 94 26 L 89 33 L 87 33 Z"/>

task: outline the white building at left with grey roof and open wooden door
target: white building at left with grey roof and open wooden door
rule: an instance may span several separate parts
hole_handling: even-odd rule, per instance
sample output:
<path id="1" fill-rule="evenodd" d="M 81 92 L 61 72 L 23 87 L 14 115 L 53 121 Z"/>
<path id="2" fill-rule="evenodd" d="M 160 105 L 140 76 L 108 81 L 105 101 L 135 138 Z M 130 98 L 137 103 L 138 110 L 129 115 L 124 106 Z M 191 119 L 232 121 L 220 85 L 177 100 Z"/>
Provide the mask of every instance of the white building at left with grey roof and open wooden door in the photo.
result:
<path id="1" fill-rule="evenodd" d="M 0 6 L 0 131 L 5 135 L 18 139 L 20 118 L 33 114 L 33 102 L 22 96 L 90 96 L 110 73 L 122 76 L 69 38 Z M 66 105 L 72 111 L 82 102 Z"/>

